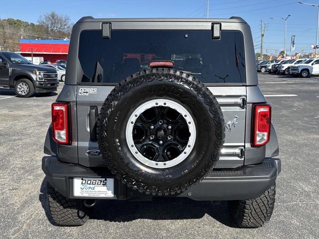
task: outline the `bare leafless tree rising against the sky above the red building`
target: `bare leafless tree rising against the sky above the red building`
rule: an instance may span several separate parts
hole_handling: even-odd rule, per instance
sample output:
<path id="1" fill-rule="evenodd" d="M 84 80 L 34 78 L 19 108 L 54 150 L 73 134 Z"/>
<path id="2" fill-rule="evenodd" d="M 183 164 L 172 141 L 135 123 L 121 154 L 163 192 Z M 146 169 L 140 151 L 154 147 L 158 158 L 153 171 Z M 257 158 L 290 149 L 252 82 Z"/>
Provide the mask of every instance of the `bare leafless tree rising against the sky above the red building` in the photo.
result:
<path id="1" fill-rule="evenodd" d="M 38 23 L 44 25 L 51 38 L 62 38 L 70 36 L 71 22 L 67 15 L 59 15 L 54 11 L 41 15 Z"/>

